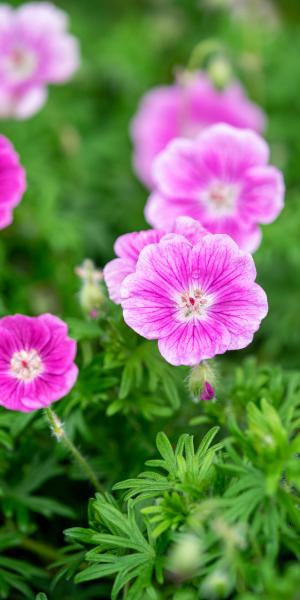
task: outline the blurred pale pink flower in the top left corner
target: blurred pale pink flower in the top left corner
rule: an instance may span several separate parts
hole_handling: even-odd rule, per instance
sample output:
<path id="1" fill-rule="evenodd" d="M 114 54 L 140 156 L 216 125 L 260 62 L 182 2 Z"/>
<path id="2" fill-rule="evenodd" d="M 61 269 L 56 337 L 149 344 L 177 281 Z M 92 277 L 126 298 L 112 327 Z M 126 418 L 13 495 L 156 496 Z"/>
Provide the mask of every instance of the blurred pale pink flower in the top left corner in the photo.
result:
<path id="1" fill-rule="evenodd" d="M 24 119 L 47 99 L 47 85 L 67 81 L 79 64 L 65 13 L 48 2 L 0 6 L 0 117 Z"/>

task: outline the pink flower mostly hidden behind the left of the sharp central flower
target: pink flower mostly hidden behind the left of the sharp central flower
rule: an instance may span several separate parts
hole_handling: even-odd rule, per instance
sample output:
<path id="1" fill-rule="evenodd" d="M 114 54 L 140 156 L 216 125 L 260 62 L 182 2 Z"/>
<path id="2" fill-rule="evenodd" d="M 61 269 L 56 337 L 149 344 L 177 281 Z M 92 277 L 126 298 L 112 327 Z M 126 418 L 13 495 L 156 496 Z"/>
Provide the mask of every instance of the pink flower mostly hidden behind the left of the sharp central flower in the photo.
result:
<path id="1" fill-rule="evenodd" d="M 166 230 L 149 229 L 121 235 L 115 242 L 114 250 L 118 258 L 111 260 L 104 267 L 104 280 L 108 288 L 110 299 L 116 304 L 121 303 L 120 290 L 125 277 L 134 273 L 140 252 L 148 244 L 159 242 L 167 234 Z M 180 234 L 192 244 L 196 244 L 207 231 L 194 219 L 179 217 L 175 219 L 174 226 L 169 235 Z"/>

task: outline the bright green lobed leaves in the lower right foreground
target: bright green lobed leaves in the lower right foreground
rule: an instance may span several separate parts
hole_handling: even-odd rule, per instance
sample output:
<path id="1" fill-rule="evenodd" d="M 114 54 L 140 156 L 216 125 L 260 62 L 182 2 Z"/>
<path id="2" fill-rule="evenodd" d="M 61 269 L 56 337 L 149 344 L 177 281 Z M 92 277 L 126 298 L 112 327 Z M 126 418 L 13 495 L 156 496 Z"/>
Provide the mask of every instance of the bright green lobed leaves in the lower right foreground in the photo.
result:
<path id="1" fill-rule="evenodd" d="M 260 406 L 248 401 L 245 425 L 232 417 L 221 442 L 212 444 L 218 427 L 197 448 L 191 435 L 181 435 L 173 449 L 159 433 L 160 458 L 147 461 L 154 470 L 114 486 L 126 492 L 126 513 L 122 503 L 97 495 L 90 503 L 90 529 L 66 532 L 93 546 L 85 555 L 90 566 L 76 581 L 114 575 L 113 599 L 126 585 L 126 598 L 142 597 L 145 590 L 149 597 L 171 598 L 173 579 L 190 583 L 187 597 L 234 594 L 244 600 L 268 593 L 268 574 L 286 556 L 295 561 L 283 584 L 292 598 L 300 557 L 299 377 L 294 385 L 298 393 L 285 387 L 278 410 L 266 398 Z"/>

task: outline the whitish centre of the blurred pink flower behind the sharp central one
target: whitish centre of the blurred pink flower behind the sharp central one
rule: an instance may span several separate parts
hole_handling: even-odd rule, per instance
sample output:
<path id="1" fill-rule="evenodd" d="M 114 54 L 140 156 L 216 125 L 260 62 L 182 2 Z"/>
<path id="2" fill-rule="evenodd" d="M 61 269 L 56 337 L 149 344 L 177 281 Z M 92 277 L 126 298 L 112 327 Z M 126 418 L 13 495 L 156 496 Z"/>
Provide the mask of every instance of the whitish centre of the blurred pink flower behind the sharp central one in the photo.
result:
<path id="1" fill-rule="evenodd" d="M 201 200 L 208 206 L 211 214 L 222 217 L 233 213 L 237 197 L 237 185 L 216 182 L 201 195 Z"/>

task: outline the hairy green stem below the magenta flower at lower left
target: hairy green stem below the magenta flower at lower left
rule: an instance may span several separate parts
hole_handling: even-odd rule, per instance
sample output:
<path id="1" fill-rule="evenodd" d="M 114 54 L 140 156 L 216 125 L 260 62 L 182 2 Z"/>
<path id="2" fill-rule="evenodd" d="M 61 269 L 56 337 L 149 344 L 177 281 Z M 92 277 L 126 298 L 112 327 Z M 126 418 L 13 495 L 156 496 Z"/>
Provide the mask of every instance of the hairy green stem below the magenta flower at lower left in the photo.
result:
<path id="1" fill-rule="evenodd" d="M 52 410 L 52 408 L 50 408 L 50 406 L 48 406 L 45 409 L 45 414 L 48 419 L 50 429 L 51 429 L 52 433 L 55 435 L 57 441 L 61 442 L 63 444 L 63 446 L 66 448 L 66 450 L 68 450 L 68 452 L 70 452 L 70 454 L 73 456 L 75 462 L 79 465 L 79 467 L 81 468 L 83 473 L 86 475 L 87 479 L 90 480 L 90 482 L 92 483 L 94 488 L 97 490 L 97 492 L 102 492 L 103 491 L 102 486 L 101 486 L 100 482 L 98 481 L 98 478 L 97 478 L 95 472 L 93 471 L 92 467 L 89 465 L 87 460 L 82 456 L 81 452 L 79 452 L 78 448 L 76 448 L 76 446 L 74 446 L 73 442 L 67 436 L 65 429 L 63 427 L 63 424 L 62 424 L 61 420 L 58 418 L 58 416 L 56 415 L 56 413 L 54 412 L 54 410 Z"/>

